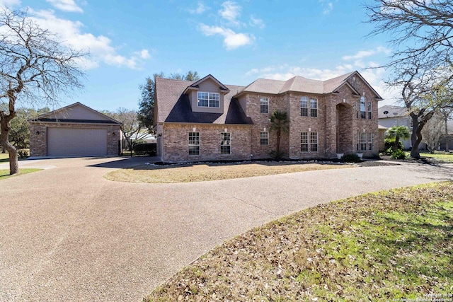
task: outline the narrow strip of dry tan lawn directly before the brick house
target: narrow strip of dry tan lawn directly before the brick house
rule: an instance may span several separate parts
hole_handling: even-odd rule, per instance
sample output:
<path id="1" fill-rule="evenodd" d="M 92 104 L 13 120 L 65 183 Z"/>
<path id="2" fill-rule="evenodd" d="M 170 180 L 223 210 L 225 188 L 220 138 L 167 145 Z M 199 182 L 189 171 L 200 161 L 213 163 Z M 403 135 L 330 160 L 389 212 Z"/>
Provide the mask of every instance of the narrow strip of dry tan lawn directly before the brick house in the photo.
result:
<path id="1" fill-rule="evenodd" d="M 105 175 L 105 178 L 119 182 L 200 182 L 351 167 L 352 165 L 292 162 L 143 165 L 138 168 L 115 170 Z"/>

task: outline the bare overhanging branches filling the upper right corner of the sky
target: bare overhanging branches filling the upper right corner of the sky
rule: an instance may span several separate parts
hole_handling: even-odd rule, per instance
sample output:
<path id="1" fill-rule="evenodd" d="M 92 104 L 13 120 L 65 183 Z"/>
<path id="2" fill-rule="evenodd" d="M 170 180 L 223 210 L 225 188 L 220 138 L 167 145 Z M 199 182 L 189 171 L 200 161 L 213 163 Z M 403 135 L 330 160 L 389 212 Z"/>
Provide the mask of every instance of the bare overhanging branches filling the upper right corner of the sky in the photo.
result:
<path id="1" fill-rule="evenodd" d="M 451 64 L 453 51 L 452 0 L 374 0 L 365 4 L 369 35 L 390 34 L 394 66 L 416 58 L 430 66 Z"/>

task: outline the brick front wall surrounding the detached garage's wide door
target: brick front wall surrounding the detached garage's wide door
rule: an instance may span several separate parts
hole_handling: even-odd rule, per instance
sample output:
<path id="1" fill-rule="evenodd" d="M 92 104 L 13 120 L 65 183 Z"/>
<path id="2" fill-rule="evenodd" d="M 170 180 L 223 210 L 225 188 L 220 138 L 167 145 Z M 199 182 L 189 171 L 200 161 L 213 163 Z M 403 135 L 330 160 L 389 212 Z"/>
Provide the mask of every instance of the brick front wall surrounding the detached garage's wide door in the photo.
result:
<path id="1" fill-rule="evenodd" d="M 119 155 L 118 141 L 122 137 L 119 125 L 106 124 L 45 124 L 39 122 L 30 122 L 30 156 L 47 156 L 47 128 L 64 127 L 64 128 L 107 128 L 107 155 Z M 36 134 L 36 132 L 40 132 Z M 115 133 L 115 135 L 113 134 Z"/>

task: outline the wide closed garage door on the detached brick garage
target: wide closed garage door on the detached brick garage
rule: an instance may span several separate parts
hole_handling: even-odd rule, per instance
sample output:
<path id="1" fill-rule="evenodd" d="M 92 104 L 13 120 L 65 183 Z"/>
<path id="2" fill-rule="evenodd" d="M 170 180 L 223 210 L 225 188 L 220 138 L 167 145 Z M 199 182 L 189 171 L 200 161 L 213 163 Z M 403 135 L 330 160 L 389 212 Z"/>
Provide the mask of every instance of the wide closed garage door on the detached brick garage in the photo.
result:
<path id="1" fill-rule="evenodd" d="M 107 129 L 48 128 L 48 156 L 105 156 Z"/>

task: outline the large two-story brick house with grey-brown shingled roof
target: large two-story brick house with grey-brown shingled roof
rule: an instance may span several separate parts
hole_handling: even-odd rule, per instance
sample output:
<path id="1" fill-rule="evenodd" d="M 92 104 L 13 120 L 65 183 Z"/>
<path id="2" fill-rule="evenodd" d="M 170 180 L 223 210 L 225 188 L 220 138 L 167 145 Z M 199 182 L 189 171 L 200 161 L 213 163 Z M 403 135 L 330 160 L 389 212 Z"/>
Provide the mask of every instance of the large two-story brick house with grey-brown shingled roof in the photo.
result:
<path id="1" fill-rule="evenodd" d="M 357 72 L 327 81 L 294 76 L 258 79 L 248 86 L 156 78 L 154 121 L 164 162 L 269 158 L 276 134 L 270 115 L 286 111 L 286 158 L 336 158 L 336 153 L 378 154 L 379 94 Z"/>

